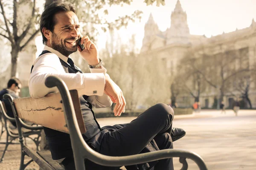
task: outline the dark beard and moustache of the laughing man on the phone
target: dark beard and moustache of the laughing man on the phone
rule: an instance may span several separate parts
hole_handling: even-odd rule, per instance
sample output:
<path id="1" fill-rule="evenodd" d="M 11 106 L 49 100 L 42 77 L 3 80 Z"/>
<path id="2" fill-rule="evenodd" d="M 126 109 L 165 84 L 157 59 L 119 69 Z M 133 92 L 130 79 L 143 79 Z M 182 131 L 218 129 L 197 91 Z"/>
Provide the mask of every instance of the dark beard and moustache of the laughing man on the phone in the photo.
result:
<path id="1" fill-rule="evenodd" d="M 71 48 L 65 45 L 65 42 L 68 40 L 76 40 L 76 37 L 61 39 L 57 34 L 52 33 L 52 48 L 62 55 L 68 57 L 70 54 L 77 51 L 77 45 L 73 45 Z"/>

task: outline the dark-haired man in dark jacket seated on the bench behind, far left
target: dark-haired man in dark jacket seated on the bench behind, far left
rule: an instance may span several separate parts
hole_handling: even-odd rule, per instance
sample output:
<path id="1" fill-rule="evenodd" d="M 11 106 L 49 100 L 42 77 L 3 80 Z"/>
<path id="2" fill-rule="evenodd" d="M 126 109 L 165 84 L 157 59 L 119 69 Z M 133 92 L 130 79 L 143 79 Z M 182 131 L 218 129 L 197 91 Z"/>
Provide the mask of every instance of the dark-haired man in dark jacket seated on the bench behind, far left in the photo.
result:
<path id="1" fill-rule="evenodd" d="M 0 91 L 0 100 L 4 102 L 6 106 L 7 115 L 14 118 L 13 112 L 12 112 L 12 106 L 8 99 L 3 99 L 4 94 L 10 94 L 13 99 L 19 98 L 19 92 L 21 88 L 20 80 L 17 78 L 9 79 L 7 83 L 7 88 L 4 88 Z M 16 127 L 16 123 L 12 122 L 12 125 Z"/>

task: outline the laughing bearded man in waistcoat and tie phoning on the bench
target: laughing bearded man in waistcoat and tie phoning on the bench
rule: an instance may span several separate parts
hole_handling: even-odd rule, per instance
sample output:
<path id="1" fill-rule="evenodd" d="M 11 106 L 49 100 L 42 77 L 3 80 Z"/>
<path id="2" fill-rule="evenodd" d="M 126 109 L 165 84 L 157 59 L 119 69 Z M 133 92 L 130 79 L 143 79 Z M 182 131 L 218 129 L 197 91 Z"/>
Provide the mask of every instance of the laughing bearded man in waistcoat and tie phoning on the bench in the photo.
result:
<path id="1" fill-rule="evenodd" d="M 81 111 L 87 132 L 83 134 L 87 144 L 99 153 L 108 156 L 127 156 L 137 153 L 173 148 L 173 140 L 185 135 L 181 129 L 172 130 L 174 112 L 169 105 L 157 104 L 146 110 L 131 123 L 100 127 L 92 110 L 105 108 L 116 103 L 115 116 L 125 112 L 125 98 L 121 89 L 111 80 L 99 59 L 96 45 L 88 36 L 81 36 L 79 20 L 70 3 L 52 3 L 41 15 L 40 30 L 45 44 L 44 51 L 35 60 L 29 78 L 30 95 L 40 98 L 57 88 L 47 88 L 45 79 L 54 75 L 64 80 L 69 90 L 76 89 L 80 96 Z M 79 45 L 84 45 L 82 50 Z M 91 73 L 84 74 L 74 65 L 70 54 L 79 51 L 90 67 Z M 52 153 L 52 159 L 64 159 L 61 164 L 73 169 L 73 153 L 70 137 L 44 127 Z M 109 170 L 86 160 L 87 170 Z M 172 158 L 126 167 L 133 169 L 173 170 Z"/>

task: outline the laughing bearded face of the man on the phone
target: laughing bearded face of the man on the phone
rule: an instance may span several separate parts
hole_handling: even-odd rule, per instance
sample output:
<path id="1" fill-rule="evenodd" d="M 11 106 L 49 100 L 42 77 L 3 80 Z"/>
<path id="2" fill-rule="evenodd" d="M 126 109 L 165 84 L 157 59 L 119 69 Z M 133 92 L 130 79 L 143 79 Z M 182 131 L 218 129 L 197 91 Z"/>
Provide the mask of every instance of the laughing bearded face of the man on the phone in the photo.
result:
<path id="1" fill-rule="evenodd" d="M 79 20 L 72 11 L 55 14 L 55 20 L 50 43 L 53 49 L 67 57 L 77 51 Z"/>

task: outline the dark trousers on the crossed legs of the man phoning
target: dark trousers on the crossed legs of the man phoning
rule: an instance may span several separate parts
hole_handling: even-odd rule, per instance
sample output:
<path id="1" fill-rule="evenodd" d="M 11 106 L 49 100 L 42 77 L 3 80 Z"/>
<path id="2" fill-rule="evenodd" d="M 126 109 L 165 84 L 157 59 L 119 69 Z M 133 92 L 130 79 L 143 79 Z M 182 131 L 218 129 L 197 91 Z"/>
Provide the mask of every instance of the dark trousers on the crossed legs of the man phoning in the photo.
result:
<path id="1" fill-rule="evenodd" d="M 102 127 L 110 130 L 104 135 L 99 153 L 107 156 L 128 156 L 140 153 L 152 139 L 160 150 L 173 148 L 172 120 L 173 109 L 166 104 L 157 104 L 146 110 L 128 124 Z M 111 127 L 111 128 L 108 128 Z M 126 167 L 128 170 L 133 166 Z M 114 167 L 103 167 L 87 161 L 86 168 L 113 170 Z M 118 169 L 118 168 L 117 168 Z M 172 158 L 162 159 L 154 170 L 173 170 Z"/>

